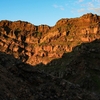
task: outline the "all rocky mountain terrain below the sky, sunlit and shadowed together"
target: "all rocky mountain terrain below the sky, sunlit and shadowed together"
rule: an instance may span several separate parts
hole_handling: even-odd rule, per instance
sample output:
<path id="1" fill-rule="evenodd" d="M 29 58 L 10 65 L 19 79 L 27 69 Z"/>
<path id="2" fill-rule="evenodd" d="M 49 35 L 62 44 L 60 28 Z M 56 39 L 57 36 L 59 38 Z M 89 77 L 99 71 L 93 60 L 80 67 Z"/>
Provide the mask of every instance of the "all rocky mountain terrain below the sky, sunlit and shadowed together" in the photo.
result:
<path id="1" fill-rule="evenodd" d="M 0 100 L 100 100 L 100 16 L 0 21 L 0 83 Z"/>

